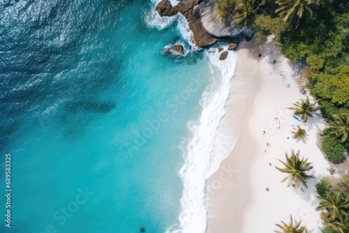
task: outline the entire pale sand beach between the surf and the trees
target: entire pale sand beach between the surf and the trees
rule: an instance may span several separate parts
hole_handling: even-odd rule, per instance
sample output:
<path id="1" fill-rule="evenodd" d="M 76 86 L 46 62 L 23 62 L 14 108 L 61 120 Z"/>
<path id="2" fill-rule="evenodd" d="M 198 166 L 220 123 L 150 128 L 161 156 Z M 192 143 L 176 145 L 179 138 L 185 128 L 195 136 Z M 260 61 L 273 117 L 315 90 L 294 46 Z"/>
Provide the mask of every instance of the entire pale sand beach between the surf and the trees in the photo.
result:
<path id="1" fill-rule="evenodd" d="M 299 72 L 271 40 L 260 45 L 241 43 L 237 57 L 237 71 L 226 104 L 227 127 L 237 125 L 234 110 L 238 102 L 245 111 L 235 148 L 207 181 L 207 232 L 274 232 L 275 224 L 280 220 L 288 223 L 290 214 L 302 220 L 310 233 L 319 232 L 321 220 L 315 211 L 318 200 L 314 185 L 329 174 L 330 167 L 316 144 L 318 130 L 324 128 L 321 117 L 315 114 L 301 123 L 286 109 L 306 96 L 295 82 Z M 274 60 L 275 64 L 270 63 Z M 280 128 L 276 128 L 275 117 Z M 306 140 L 292 139 L 291 123 L 306 129 Z M 316 179 L 310 179 L 309 189 L 302 187 L 304 191 L 288 187 L 288 181 L 281 183 L 286 175 L 274 167 L 282 167 L 277 159 L 284 160 L 285 151 L 290 153 L 292 149 L 313 162 L 311 174 Z"/>

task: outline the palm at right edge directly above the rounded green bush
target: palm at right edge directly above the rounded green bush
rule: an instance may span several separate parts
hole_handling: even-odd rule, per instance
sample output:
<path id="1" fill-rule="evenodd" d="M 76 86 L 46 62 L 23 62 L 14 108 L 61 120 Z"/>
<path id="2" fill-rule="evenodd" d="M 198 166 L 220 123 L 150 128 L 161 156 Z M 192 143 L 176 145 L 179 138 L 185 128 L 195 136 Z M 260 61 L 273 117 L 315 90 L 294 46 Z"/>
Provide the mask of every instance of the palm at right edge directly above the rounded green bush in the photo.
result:
<path id="1" fill-rule="evenodd" d="M 334 121 L 327 124 L 329 129 L 329 135 L 335 135 L 335 137 L 341 137 L 340 142 L 346 142 L 349 139 L 349 115 L 348 113 L 333 114 Z"/>

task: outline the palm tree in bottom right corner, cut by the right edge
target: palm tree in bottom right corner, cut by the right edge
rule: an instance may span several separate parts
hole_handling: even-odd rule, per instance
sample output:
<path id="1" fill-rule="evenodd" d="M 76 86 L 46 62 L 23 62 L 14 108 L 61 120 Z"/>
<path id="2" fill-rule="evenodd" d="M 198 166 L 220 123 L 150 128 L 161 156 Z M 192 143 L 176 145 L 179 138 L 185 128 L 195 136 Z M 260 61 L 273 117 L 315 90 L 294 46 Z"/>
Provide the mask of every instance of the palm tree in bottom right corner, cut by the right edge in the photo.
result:
<path id="1" fill-rule="evenodd" d="M 349 230 L 349 195 L 336 190 L 336 193 L 329 192 L 325 197 L 319 196 L 318 200 L 320 204 L 316 210 L 325 210 L 324 220 L 329 227 L 339 232 Z"/>

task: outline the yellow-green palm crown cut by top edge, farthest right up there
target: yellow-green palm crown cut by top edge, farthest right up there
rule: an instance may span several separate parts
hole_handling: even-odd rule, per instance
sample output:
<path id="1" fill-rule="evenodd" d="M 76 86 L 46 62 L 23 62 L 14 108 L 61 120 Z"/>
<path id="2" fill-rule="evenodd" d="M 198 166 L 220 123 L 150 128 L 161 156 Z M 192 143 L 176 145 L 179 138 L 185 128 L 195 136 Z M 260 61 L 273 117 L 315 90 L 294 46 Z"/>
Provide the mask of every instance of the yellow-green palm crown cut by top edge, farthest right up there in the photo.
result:
<path id="1" fill-rule="evenodd" d="M 313 15 L 311 5 L 318 5 L 319 0 L 277 0 L 276 3 L 279 8 L 275 13 L 279 13 L 283 17 L 283 21 L 291 24 L 297 19 L 297 27 L 299 20 L 308 12 L 310 17 Z"/>

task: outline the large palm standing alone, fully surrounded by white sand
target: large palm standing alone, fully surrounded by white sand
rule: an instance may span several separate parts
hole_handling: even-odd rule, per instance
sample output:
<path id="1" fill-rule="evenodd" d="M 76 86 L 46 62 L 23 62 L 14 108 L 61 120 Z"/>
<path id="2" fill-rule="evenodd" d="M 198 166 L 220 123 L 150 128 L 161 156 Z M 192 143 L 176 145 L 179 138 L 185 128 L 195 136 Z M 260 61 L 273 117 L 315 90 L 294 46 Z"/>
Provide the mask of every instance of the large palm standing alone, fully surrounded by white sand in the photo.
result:
<path id="1" fill-rule="evenodd" d="M 281 182 L 284 182 L 290 178 L 292 186 L 295 186 L 295 189 L 297 189 L 299 182 L 302 182 L 304 186 L 306 186 L 306 179 L 315 178 L 314 176 L 309 176 L 306 174 L 306 172 L 313 169 L 313 167 L 311 167 L 311 163 L 307 162 L 308 158 L 302 158 L 302 160 L 299 158 L 299 151 L 295 153 L 295 151 L 292 150 L 291 156 L 288 156 L 288 153 L 285 152 L 285 156 L 285 163 L 278 159 L 281 163 L 283 163 L 285 168 L 276 167 L 276 169 L 280 172 L 288 173 L 288 176 L 286 176 Z M 308 186 L 306 186 L 306 188 L 308 188 Z"/>

